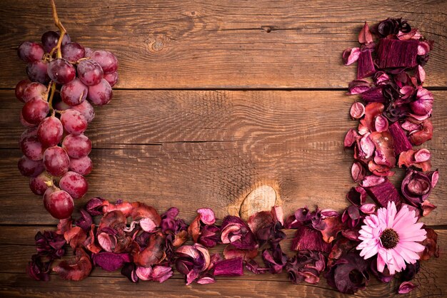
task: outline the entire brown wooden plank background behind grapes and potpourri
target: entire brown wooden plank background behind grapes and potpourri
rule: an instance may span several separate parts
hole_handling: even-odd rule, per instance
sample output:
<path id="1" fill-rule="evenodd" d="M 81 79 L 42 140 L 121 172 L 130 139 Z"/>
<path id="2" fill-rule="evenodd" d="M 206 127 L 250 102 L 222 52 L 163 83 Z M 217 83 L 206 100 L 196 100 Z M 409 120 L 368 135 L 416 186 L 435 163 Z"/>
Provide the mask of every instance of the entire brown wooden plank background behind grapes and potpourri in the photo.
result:
<path id="1" fill-rule="evenodd" d="M 211 4 L 212 2 L 216 2 Z M 341 210 L 353 185 L 352 152 L 343 136 L 356 122 L 345 96 L 355 66 L 341 63 L 363 21 L 403 17 L 435 41 L 426 86 L 435 107 L 433 166 L 438 205 L 425 220 L 439 234 L 441 257 L 424 262 L 411 297 L 447 294 L 447 1 L 56 1 L 72 40 L 119 58 L 120 81 L 86 132 L 94 144 L 87 197 L 171 205 L 187 220 L 198 207 L 237 213 L 256 187 L 276 191 L 287 214 L 297 207 Z M 21 103 L 14 86 L 26 77 L 16 46 L 54 29 L 49 1 L 4 0 L 0 6 L 0 295 L 147 295 L 340 297 L 323 279 L 293 285 L 286 274 L 219 278 L 184 285 L 131 284 L 95 269 L 82 282 L 35 282 L 24 269 L 34 234 L 53 229 L 41 198 L 19 175 Z M 398 173 L 398 178 L 402 173 Z M 291 235 L 289 233 L 289 235 Z M 288 245 L 286 245 L 288 247 Z M 384 297 L 398 284 L 371 281 L 359 296 Z"/>

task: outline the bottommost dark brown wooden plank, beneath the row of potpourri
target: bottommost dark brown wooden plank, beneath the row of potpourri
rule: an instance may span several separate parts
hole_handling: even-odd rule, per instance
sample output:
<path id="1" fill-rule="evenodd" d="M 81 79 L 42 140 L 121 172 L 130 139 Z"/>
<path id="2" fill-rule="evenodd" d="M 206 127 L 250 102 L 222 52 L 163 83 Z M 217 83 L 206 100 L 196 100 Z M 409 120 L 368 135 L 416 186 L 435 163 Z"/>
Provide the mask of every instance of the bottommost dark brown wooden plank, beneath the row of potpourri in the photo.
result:
<path id="1" fill-rule="evenodd" d="M 51 229 L 52 227 L 48 227 Z M 67 282 L 59 279 L 54 274 L 51 282 L 35 282 L 24 274 L 24 267 L 29 257 L 34 253 L 34 233 L 36 230 L 45 230 L 45 227 L 2 227 L 0 234 L 0 294 L 40 296 L 44 294 L 56 295 L 59 292 L 69 295 L 89 295 L 89 293 L 100 293 L 106 295 L 135 295 L 136 292 L 149 292 L 162 296 L 179 295 L 241 295 L 265 297 L 264 295 L 274 295 L 274 297 L 296 296 L 300 292 L 300 297 L 342 297 L 340 293 L 331 289 L 324 278 L 317 285 L 298 284 L 293 285 L 287 281 L 286 273 L 256 275 L 245 272 L 243 277 L 219 277 L 216 284 L 199 287 L 197 284 L 186 287 L 181 274 L 176 273 L 172 279 L 164 284 L 151 282 L 140 282 L 138 285 L 131 284 L 119 272 L 105 272 L 102 269 L 94 269 L 91 276 L 81 282 Z M 447 231 L 436 230 L 438 232 L 438 244 L 445 247 Z M 284 240 L 282 247 L 286 254 L 291 256 L 291 237 L 293 230 L 287 230 L 288 239 Z M 11 245 L 14 243 L 20 245 Z M 216 247 L 212 252 L 221 253 L 224 246 Z M 410 297 L 421 296 L 443 296 L 447 291 L 447 259 L 446 252 L 441 250 L 441 257 L 437 260 L 423 262 L 421 272 L 416 276 L 414 282 L 418 284 L 418 289 L 411 292 Z M 107 287 L 104 286 L 107 284 Z M 371 277 L 370 284 L 364 291 L 357 293 L 361 297 L 385 297 L 395 292 L 398 282 L 382 284 Z M 279 290 L 281 289 L 281 290 Z M 152 292 L 153 291 L 153 292 Z M 64 296 L 65 297 L 65 296 Z M 70 297 L 70 296 L 69 296 Z"/>

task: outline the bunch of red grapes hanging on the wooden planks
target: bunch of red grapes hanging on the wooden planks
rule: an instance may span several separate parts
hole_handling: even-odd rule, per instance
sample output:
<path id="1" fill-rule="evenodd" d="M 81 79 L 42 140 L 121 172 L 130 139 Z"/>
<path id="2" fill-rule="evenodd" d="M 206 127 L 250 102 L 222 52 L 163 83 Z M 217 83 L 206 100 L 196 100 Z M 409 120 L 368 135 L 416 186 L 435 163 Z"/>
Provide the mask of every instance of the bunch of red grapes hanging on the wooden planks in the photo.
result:
<path id="1" fill-rule="evenodd" d="M 46 210 L 64 219 L 73 212 L 73 199 L 89 188 L 84 176 L 93 168 L 91 141 L 84 131 L 95 115 L 91 104 L 111 101 L 118 61 L 109 51 L 84 48 L 55 31 L 46 32 L 41 43 L 21 43 L 18 53 L 28 63 L 29 78 L 16 86 L 27 128 L 20 137 L 19 170 L 31 178 L 31 190 L 44 195 Z"/>

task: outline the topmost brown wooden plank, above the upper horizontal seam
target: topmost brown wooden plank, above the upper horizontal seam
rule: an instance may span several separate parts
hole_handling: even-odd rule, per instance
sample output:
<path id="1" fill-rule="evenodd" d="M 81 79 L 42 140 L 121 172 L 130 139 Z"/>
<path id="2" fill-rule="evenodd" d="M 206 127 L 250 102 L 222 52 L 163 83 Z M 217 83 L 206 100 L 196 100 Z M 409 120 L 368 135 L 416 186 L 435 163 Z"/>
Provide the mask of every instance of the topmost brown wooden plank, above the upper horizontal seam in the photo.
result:
<path id="1" fill-rule="evenodd" d="M 54 30 L 49 1 L 0 7 L 0 88 L 24 78 L 15 48 Z M 346 88 L 364 21 L 403 17 L 435 41 L 427 86 L 447 86 L 446 1 L 56 1 L 71 37 L 119 58 L 119 88 Z"/>

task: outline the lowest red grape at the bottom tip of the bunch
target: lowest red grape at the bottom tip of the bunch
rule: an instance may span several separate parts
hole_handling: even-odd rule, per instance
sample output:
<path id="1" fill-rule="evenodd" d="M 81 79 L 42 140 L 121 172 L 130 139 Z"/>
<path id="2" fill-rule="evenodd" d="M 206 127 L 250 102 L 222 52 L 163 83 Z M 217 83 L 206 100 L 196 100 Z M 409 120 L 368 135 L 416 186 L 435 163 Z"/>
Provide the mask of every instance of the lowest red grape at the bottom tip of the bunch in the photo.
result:
<path id="1" fill-rule="evenodd" d="M 44 206 L 52 217 L 63 220 L 73 213 L 74 202 L 68 192 L 49 188 L 44 193 Z"/>

